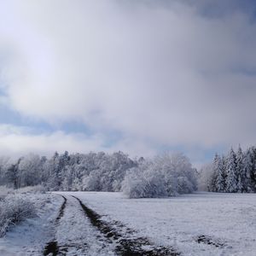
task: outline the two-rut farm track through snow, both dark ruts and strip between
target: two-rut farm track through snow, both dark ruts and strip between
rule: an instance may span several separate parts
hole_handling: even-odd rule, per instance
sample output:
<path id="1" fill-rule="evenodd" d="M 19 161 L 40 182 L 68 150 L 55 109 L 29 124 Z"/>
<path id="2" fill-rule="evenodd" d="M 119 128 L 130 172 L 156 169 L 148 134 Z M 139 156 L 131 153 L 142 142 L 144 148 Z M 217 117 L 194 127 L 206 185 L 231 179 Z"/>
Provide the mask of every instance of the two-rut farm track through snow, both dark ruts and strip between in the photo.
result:
<path id="1" fill-rule="evenodd" d="M 153 245 L 146 237 L 119 222 L 108 223 L 75 196 L 63 196 L 55 223 L 55 239 L 49 241 L 44 255 L 170 255 L 172 247 Z"/>

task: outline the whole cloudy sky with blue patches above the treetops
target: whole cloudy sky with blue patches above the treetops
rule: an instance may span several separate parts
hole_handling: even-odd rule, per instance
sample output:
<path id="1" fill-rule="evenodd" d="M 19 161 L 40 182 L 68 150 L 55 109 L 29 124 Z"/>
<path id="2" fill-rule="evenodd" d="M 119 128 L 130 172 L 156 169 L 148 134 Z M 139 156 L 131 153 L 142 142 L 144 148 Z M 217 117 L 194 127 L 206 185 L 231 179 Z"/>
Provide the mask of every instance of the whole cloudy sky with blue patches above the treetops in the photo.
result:
<path id="1" fill-rule="evenodd" d="M 0 154 L 255 145 L 256 3 L 0 2 Z"/>

